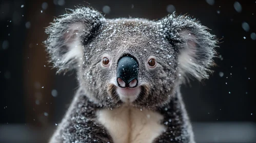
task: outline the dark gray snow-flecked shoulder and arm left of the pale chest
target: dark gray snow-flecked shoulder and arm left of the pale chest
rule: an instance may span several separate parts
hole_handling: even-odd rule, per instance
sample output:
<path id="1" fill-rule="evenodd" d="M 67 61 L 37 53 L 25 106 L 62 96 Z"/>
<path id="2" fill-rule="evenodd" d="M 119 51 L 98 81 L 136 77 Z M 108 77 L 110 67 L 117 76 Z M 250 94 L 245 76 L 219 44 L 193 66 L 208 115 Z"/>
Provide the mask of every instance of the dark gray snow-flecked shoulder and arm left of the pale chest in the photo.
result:
<path id="1" fill-rule="evenodd" d="M 96 109 L 100 108 L 102 107 L 86 98 L 83 89 L 78 89 L 72 105 L 50 142 L 112 142 L 104 127 L 95 122 Z"/>

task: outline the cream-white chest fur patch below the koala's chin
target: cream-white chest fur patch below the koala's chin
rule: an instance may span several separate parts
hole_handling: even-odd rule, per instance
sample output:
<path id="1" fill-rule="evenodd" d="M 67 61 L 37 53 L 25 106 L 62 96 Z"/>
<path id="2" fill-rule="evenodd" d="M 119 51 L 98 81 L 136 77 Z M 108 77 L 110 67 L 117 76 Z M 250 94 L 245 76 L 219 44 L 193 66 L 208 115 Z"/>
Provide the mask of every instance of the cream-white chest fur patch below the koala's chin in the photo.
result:
<path id="1" fill-rule="evenodd" d="M 120 107 L 97 111 L 97 120 L 108 130 L 114 143 L 152 142 L 164 132 L 163 116 L 150 110 Z"/>

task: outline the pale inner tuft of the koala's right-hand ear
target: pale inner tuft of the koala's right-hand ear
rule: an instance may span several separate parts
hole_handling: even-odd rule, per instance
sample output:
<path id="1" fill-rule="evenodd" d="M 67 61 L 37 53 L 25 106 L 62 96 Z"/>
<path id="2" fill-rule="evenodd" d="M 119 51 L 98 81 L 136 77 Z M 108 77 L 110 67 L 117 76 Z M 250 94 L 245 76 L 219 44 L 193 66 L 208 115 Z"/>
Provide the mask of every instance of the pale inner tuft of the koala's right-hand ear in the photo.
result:
<path id="1" fill-rule="evenodd" d="M 189 75 L 199 81 L 208 79 L 208 74 L 211 73 L 209 67 L 213 64 L 212 58 L 215 52 L 200 43 L 202 39 L 198 39 L 194 33 L 184 30 L 179 34 L 184 40 L 180 44 L 181 48 L 178 57 L 179 74 L 183 75 L 183 78 L 187 80 Z"/>

